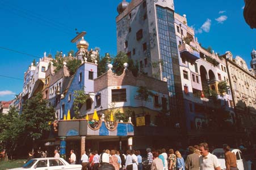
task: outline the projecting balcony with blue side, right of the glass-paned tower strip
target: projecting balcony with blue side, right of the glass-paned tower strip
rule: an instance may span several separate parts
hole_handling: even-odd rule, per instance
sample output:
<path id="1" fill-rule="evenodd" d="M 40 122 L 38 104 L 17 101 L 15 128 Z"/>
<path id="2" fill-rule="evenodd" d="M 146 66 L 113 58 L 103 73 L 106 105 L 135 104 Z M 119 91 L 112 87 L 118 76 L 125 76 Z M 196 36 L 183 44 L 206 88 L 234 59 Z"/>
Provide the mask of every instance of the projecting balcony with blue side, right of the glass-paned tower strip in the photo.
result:
<path id="1" fill-rule="evenodd" d="M 181 53 L 181 57 L 185 57 L 192 60 L 200 59 L 200 54 L 194 47 L 191 47 L 187 43 L 183 43 L 179 45 L 179 53 Z"/>

